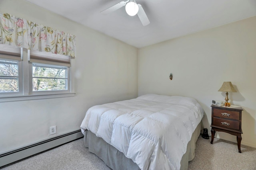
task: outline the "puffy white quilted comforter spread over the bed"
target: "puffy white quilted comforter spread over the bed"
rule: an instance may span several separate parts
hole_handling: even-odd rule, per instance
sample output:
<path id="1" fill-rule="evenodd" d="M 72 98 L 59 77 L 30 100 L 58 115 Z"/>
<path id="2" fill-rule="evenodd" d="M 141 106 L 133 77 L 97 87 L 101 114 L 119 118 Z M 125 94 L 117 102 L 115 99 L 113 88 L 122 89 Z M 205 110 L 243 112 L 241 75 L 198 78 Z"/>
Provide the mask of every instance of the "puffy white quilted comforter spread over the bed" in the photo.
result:
<path id="1" fill-rule="evenodd" d="M 178 170 L 203 113 L 193 98 L 147 94 L 91 107 L 81 130 L 92 131 L 142 170 Z"/>

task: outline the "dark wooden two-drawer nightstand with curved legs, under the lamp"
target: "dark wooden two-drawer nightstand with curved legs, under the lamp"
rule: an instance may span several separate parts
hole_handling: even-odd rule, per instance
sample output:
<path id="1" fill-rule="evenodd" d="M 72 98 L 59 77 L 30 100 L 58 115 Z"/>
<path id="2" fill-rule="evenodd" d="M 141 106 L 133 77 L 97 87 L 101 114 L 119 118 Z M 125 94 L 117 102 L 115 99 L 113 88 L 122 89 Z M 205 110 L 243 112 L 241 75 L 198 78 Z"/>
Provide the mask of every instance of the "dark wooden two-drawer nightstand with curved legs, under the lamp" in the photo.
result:
<path id="1" fill-rule="evenodd" d="M 242 124 L 242 107 L 221 107 L 212 104 L 212 141 L 216 131 L 226 132 L 236 135 L 238 151 L 241 153 L 241 134 L 243 133 Z"/>

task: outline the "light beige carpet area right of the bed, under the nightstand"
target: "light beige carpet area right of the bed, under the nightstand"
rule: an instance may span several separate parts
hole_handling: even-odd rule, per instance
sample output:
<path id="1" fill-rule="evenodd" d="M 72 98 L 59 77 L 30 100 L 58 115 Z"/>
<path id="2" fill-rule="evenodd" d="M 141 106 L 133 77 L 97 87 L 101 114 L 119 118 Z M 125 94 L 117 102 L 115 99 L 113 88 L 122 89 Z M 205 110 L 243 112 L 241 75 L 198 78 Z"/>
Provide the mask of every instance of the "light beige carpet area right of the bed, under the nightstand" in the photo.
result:
<path id="1" fill-rule="evenodd" d="M 211 138 L 211 137 L 210 137 Z M 222 139 L 203 139 L 196 142 L 195 157 L 188 163 L 188 170 L 256 170 L 256 148 Z"/>

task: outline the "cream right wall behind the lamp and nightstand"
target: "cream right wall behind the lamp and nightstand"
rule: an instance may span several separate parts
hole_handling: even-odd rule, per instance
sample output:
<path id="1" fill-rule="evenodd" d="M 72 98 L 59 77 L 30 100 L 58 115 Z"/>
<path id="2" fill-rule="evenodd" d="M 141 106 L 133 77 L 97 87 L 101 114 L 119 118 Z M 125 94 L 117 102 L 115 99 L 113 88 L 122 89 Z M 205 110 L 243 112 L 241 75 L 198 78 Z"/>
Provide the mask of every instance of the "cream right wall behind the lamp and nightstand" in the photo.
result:
<path id="1" fill-rule="evenodd" d="M 186 35 L 139 49 L 138 95 L 147 93 L 190 96 L 198 100 L 210 131 L 212 100 L 231 81 L 236 93 L 231 104 L 242 112 L 242 144 L 256 147 L 256 17 Z M 169 79 L 170 73 L 173 79 Z M 236 142 L 236 137 L 218 133 Z"/>

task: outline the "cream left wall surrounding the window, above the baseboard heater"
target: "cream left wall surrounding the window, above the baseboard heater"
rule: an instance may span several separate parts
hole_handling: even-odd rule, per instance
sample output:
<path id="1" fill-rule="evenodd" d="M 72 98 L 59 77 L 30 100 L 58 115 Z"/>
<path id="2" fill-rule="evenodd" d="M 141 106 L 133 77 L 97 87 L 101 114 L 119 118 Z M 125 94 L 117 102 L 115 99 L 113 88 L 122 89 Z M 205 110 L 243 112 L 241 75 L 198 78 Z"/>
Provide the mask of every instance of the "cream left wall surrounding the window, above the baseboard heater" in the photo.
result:
<path id="1" fill-rule="evenodd" d="M 39 8 L 0 0 L 0 13 L 76 35 L 76 96 L 0 103 L 0 153 L 80 129 L 91 106 L 138 96 L 138 49 Z M 132 69 L 131 69 L 132 68 Z M 57 134 L 50 135 L 50 126 Z"/>

